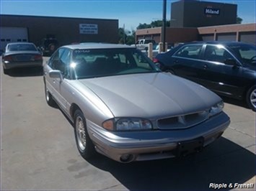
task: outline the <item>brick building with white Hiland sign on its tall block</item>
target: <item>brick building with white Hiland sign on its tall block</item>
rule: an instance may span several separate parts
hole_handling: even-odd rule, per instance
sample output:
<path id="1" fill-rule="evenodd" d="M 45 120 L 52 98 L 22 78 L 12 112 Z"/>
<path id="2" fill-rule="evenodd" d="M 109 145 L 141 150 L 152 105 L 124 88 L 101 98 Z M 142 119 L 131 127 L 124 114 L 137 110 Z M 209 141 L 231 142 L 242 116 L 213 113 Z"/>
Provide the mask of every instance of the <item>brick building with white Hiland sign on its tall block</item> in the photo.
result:
<path id="1" fill-rule="evenodd" d="M 241 41 L 256 44 L 256 25 L 236 24 L 237 5 L 206 1 L 176 1 L 171 4 L 171 27 L 166 42 L 175 45 L 191 41 Z M 136 40 L 161 42 L 162 27 L 138 29 Z"/>

